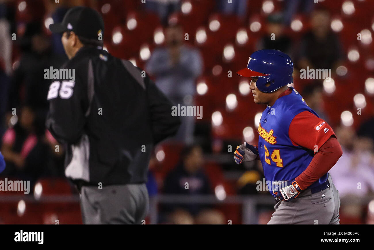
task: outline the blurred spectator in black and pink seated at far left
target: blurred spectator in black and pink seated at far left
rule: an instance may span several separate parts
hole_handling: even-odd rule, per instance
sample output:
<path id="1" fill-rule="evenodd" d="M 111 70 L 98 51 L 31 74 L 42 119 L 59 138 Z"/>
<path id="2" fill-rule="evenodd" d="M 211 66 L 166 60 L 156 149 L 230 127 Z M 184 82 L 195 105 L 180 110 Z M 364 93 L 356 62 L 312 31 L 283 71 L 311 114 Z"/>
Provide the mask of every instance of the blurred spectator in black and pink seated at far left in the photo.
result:
<path id="1" fill-rule="evenodd" d="M 51 153 L 52 150 L 55 152 L 57 143 L 51 141 L 51 136 L 39 135 L 35 117 L 32 108 L 23 107 L 19 122 L 6 130 L 1 145 L 7 165 L 2 175 L 24 178 L 32 184 L 41 176 L 61 175 L 54 156 L 58 158 L 62 154 L 62 149 L 55 155 Z"/>

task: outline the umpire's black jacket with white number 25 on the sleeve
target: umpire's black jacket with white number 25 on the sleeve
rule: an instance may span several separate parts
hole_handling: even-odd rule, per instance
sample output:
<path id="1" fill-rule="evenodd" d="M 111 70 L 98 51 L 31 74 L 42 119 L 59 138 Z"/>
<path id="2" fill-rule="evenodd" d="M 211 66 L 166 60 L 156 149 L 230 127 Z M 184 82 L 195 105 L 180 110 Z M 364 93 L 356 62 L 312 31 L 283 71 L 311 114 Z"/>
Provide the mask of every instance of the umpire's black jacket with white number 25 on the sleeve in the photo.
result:
<path id="1" fill-rule="evenodd" d="M 66 145 L 65 175 L 78 185 L 147 181 L 154 144 L 180 126 L 168 98 L 144 71 L 100 48 L 81 48 L 61 68 L 74 69 L 75 82 L 52 80 L 46 126 Z"/>

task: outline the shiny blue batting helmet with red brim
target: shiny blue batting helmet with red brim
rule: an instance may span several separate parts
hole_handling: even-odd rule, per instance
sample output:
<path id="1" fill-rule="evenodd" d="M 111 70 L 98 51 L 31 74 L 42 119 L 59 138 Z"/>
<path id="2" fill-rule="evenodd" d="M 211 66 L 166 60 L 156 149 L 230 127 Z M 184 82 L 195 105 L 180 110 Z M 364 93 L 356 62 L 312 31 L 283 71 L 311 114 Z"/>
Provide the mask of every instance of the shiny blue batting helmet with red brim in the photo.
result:
<path id="1" fill-rule="evenodd" d="M 292 72 L 294 65 L 287 54 L 280 50 L 258 50 L 249 57 L 248 66 L 236 73 L 246 77 L 258 76 L 257 88 L 270 93 L 292 83 Z"/>

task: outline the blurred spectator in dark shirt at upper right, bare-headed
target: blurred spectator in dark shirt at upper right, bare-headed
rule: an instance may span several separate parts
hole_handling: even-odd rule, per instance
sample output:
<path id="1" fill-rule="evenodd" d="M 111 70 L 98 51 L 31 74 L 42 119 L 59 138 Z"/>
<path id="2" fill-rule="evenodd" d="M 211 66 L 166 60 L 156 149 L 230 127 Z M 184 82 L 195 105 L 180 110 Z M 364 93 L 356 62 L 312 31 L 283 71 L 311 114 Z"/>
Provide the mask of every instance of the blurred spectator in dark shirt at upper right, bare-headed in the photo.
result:
<path id="1" fill-rule="evenodd" d="M 313 11 L 310 20 L 312 30 L 307 32 L 301 41 L 298 67 L 306 69 L 335 69 L 342 60 L 338 36 L 331 31 L 330 13 L 325 9 Z"/>

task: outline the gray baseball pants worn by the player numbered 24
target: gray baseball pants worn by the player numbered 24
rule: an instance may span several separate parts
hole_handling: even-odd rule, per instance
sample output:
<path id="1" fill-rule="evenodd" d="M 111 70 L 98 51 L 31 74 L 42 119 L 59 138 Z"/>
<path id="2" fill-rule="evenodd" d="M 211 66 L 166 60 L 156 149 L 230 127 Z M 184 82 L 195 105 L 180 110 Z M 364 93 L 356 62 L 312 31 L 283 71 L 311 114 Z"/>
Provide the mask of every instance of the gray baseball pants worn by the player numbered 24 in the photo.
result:
<path id="1" fill-rule="evenodd" d="M 330 187 L 312 194 L 306 190 L 290 202 L 278 202 L 267 224 L 339 224 L 339 191 L 330 174 Z"/>

